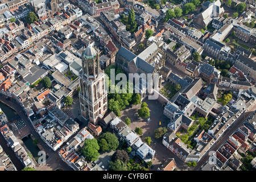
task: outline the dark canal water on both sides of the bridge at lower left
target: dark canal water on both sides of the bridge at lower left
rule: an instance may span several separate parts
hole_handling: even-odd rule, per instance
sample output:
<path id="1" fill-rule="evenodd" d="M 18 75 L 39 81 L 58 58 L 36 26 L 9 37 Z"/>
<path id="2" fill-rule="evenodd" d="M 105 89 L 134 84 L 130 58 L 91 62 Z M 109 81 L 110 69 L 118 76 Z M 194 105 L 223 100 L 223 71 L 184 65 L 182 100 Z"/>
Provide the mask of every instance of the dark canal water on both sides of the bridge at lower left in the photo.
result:
<path id="1" fill-rule="evenodd" d="M 11 109 L 9 106 L 0 102 L 0 107 L 10 122 L 14 121 L 15 119 L 19 119 L 18 113 L 16 113 L 16 111 Z M 38 146 L 35 146 L 33 144 L 33 139 L 30 136 L 28 136 L 28 137 L 23 138 L 22 140 L 23 140 L 24 144 L 26 145 L 26 147 L 28 148 L 28 150 L 31 152 L 31 154 L 34 157 L 34 159 L 36 160 L 36 162 L 38 162 L 38 158 L 39 158 L 38 152 L 40 150 L 39 150 Z"/>

